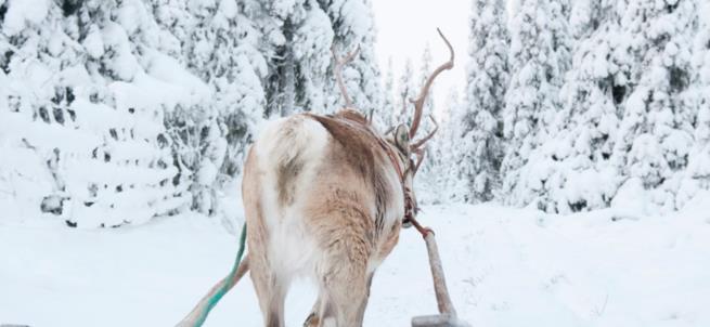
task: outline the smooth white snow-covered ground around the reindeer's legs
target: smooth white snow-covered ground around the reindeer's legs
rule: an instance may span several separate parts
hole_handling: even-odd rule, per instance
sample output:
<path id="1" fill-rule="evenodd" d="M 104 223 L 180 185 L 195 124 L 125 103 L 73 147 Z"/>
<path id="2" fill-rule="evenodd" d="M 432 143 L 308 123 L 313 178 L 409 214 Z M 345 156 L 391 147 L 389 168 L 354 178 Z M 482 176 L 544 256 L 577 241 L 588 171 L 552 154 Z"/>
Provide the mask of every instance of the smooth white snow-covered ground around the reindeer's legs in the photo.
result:
<path id="1" fill-rule="evenodd" d="M 473 326 L 710 326 L 710 206 L 669 217 L 615 210 L 548 215 L 494 205 L 427 207 L 460 315 Z M 0 223 L 0 325 L 172 326 L 230 269 L 236 237 L 218 220 L 72 230 Z M 287 325 L 313 290 L 296 285 Z M 421 237 L 402 232 L 375 275 L 366 326 L 433 314 Z M 206 326 L 259 326 L 248 278 Z"/>

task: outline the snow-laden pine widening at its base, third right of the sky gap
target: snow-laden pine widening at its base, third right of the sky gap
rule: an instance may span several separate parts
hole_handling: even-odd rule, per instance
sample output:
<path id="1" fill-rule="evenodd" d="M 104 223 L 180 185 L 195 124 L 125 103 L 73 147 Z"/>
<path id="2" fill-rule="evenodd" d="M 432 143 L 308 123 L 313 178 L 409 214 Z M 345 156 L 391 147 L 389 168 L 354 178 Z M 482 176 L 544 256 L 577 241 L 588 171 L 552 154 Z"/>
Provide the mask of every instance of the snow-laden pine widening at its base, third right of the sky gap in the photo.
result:
<path id="1" fill-rule="evenodd" d="M 617 19 L 612 3 L 575 2 L 570 30 L 576 42 L 572 66 L 560 90 L 561 110 L 552 125 L 553 138 L 539 152 L 537 193 L 547 211 L 570 212 L 603 208 L 618 185 L 610 167 L 615 134 L 627 96 L 619 84 L 625 79 L 623 57 L 614 51 Z"/>

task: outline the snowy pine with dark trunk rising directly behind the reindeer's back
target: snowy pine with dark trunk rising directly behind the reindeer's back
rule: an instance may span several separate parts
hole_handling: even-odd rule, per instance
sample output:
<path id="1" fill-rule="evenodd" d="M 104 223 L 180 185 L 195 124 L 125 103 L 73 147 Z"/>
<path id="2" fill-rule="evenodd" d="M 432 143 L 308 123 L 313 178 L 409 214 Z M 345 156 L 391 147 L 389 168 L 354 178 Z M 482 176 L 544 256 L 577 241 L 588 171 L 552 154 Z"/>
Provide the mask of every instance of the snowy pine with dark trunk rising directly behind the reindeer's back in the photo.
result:
<path id="1" fill-rule="evenodd" d="M 262 14 L 256 21 L 266 37 L 267 115 L 324 113 L 334 38 L 331 19 L 315 0 L 261 4 Z"/>

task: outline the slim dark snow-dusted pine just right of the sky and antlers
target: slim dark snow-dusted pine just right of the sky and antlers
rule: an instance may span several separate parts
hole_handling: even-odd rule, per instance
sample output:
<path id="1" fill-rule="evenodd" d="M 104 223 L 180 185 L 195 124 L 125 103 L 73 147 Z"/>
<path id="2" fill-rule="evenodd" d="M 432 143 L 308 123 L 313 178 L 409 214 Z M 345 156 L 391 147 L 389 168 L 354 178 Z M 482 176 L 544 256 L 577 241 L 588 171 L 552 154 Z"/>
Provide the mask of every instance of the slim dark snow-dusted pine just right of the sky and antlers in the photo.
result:
<path id="1" fill-rule="evenodd" d="M 465 114 L 454 141 L 463 143 L 457 152 L 462 162 L 459 174 L 466 189 L 461 197 L 467 201 L 492 199 L 500 184 L 501 115 L 508 80 L 508 36 L 504 17 L 502 1 L 474 1 Z"/>

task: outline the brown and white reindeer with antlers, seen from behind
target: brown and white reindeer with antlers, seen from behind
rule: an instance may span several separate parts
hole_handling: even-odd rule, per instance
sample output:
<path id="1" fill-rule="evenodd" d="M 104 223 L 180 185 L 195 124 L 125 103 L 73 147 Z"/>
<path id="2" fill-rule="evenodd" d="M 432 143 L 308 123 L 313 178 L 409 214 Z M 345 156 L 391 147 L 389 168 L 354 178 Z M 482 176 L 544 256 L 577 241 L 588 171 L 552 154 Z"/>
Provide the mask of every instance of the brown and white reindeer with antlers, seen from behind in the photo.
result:
<path id="1" fill-rule="evenodd" d="M 439 36 L 449 48 L 449 61 L 411 100 L 411 126 L 387 133 L 352 108 L 343 82 L 343 66 L 358 50 L 345 58 L 333 51 L 346 107 L 335 115 L 277 119 L 257 138 L 242 184 L 249 253 L 234 278 L 228 276 L 212 290 L 225 283 L 233 286 L 250 270 L 264 326 L 283 327 L 288 286 L 304 276 L 319 287 L 304 326 L 362 326 L 375 270 L 397 244 L 402 224 L 415 222 L 413 178 L 425 156 L 424 144 L 438 129 L 436 121 L 428 135 L 411 140 L 431 83 L 453 67 L 453 49 L 441 31 Z"/>

